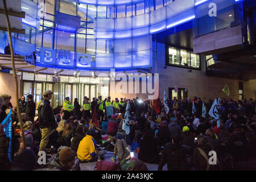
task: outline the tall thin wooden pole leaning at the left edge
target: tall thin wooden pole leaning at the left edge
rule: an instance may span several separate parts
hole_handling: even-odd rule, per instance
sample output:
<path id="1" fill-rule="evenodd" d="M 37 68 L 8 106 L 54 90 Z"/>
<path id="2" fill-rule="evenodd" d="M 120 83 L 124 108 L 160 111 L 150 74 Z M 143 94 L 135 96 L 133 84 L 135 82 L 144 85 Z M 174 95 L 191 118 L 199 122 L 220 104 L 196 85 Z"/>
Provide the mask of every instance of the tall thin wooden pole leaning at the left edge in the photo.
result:
<path id="1" fill-rule="evenodd" d="M 10 21 L 9 21 L 9 17 L 8 17 L 8 13 L 7 13 L 6 0 L 3 0 L 3 6 L 4 6 L 4 9 L 5 9 L 7 31 L 8 31 L 8 35 L 9 35 L 9 44 L 10 44 L 10 51 L 11 51 L 11 66 L 12 66 L 12 69 L 13 69 L 13 77 L 14 77 L 14 85 L 15 85 L 16 109 L 17 109 L 17 115 L 18 115 L 19 124 L 20 124 L 20 130 L 21 130 L 21 135 L 22 135 L 22 142 L 24 144 L 24 148 L 26 148 L 26 141 L 25 141 L 25 136 L 24 136 L 23 123 L 22 123 L 22 120 L 21 120 L 21 117 L 20 117 L 20 111 L 19 111 L 18 81 L 17 81 L 15 65 L 14 65 L 13 42 L 11 41 Z"/>

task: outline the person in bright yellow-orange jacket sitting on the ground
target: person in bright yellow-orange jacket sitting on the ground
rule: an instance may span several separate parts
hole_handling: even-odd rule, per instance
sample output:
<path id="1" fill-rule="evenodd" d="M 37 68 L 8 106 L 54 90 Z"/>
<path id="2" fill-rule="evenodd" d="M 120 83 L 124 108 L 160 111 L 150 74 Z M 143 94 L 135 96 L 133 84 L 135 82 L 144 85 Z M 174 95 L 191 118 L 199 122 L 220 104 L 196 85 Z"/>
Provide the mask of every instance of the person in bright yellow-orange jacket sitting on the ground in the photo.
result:
<path id="1" fill-rule="evenodd" d="M 95 137 L 95 129 L 90 129 L 79 143 L 77 158 L 80 162 L 94 162 L 104 158 L 105 150 L 98 151 Z"/>

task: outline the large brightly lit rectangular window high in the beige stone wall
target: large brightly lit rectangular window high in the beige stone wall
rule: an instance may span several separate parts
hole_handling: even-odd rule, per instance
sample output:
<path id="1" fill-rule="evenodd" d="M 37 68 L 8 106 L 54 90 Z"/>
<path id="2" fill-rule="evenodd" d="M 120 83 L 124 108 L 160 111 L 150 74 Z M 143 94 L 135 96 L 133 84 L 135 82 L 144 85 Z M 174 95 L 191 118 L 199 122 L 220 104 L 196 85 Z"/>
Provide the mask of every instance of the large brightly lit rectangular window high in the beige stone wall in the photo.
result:
<path id="1" fill-rule="evenodd" d="M 168 60 L 166 61 L 166 65 L 200 69 L 200 55 L 175 47 L 168 47 L 167 53 Z"/>

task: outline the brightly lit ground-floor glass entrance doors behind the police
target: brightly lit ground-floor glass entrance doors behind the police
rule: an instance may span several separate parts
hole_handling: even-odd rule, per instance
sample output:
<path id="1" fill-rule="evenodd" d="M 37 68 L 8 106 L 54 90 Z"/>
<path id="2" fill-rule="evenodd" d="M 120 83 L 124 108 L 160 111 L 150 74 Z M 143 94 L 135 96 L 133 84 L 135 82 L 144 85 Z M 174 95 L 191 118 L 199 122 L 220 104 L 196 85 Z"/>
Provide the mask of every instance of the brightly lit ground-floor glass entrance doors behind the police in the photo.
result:
<path id="1" fill-rule="evenodd" d="M 92 101 L 93 97 L 109 96 L 109 78 L 108 77 L 73 77 L 59 76 L 57 79 L 53 75 L 35 74 L 20 72 L 20 81 L 22 81 L 22 95 L 32 94 L 36 106 L 42 98 L 45 90 L 52 90 L 53 96 L 51 105 L 53 108 L 63 105 L 65 97 L 69 97 L 73 103 L 75 98 L 82 105 L 84 97 L 87 96 Z M 12 74 L 10 72 L 10 74 Z M 53 77 L 55 78 L 53 81 Z M 105 84 L 103 84 L 103 82 Z M 102 86 L 103 85 L 103 86 Z M 99 89 L 99 86 L 100 89 Z M 36 111 L 37 112 L 37 111 Z"/>

